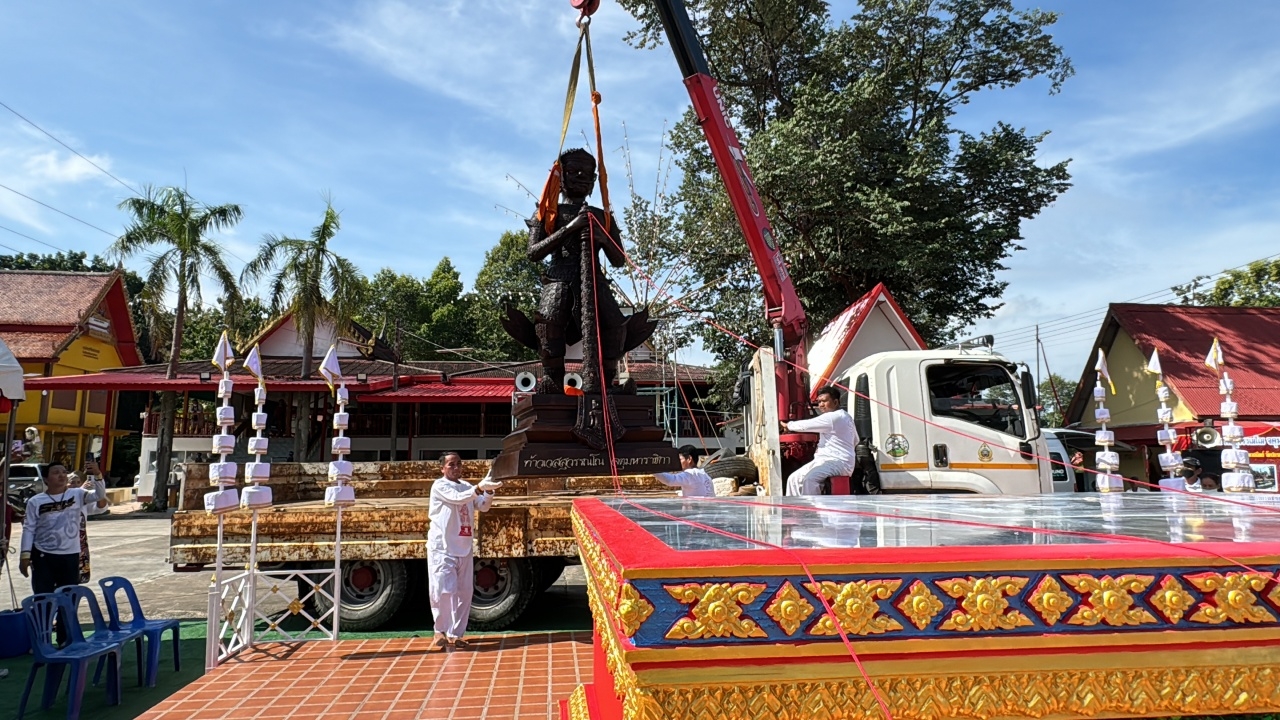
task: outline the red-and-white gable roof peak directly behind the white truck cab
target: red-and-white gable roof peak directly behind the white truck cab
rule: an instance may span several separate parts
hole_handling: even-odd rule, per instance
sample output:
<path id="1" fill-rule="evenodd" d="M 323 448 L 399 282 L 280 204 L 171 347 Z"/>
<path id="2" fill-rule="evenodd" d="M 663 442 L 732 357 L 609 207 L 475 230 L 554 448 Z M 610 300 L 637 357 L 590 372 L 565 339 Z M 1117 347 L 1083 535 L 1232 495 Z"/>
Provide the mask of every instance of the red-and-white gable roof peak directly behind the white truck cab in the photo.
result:
<path id="1" fill-rule="evenodd" d="M 888 337 L 868 338 L 867 347 L 855 348 L 858 357 L 854 357 L 852 361 L 844 361 L 859 332 L 870 329 L 873 324 L 888 329 Z M 879 283 L 827 323 L 813 347 L 809 348 L 810 400 L 817 398 L 817 392 L 837 377 L 844 366 L 851 366 L 867 355 L 890 350 L 924 350 L 925 347 L 924 338 L 915 331 L 915 325 L 911 324 L 906 313 L 902 313 L 884 283 Z"/>

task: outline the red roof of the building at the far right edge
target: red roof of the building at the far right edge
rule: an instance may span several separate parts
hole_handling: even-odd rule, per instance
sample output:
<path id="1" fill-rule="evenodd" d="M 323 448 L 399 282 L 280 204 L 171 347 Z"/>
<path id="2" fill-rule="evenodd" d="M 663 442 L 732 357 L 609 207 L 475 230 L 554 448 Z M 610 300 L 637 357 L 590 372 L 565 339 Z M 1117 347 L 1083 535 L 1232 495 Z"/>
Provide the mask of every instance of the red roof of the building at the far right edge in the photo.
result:
<path id="1" fill-rule="evenodd" d="M 1198 307 L 1189 305 L 1112 304 L 1102 320 L 1068 418 L 1079 419 L 1091 397 L 1093 357 L 1110 352 L 1119 329 L 1144 357 L 1160 351 L 1165 382 L 1197 416 L 1220 414 L 1217 375 L 1204 366 L 1213 338 L 1222 345 L 1226 372 L 1235 380 L 1233 400 L 1242 418 L 1280 416 L 1280 307 Z"/>

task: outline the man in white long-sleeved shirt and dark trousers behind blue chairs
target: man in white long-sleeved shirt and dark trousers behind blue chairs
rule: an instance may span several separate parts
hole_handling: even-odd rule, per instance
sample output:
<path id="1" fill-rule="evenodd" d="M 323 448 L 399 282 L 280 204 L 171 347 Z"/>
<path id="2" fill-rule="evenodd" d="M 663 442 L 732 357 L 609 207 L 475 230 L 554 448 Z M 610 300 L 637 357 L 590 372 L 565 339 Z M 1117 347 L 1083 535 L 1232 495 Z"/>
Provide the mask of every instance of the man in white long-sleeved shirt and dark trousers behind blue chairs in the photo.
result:
<path id="1" fill-rule="evenodd" d="M 36 593 L 78 585 L 81 578 L 81 523 L 91 505 L 106 507 L 106 488 L 97 482 L 97 462 L 84 464 L 83 487 L 68 487 L 67 468 L 45 468 L 45 492 L 27 501 L 22 523 L 22 555 L 18 571 L 31 577 Z"/>

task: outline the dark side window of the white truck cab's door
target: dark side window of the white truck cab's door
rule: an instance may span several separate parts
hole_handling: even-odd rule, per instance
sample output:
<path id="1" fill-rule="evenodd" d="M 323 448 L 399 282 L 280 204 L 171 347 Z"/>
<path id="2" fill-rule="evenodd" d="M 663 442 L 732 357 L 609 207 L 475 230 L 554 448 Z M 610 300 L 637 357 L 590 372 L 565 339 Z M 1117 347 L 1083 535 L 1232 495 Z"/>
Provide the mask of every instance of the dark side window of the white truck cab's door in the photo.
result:
<path id="1" fill-rule="evenodd" d="M 1027 437 L 1018 384 L 1000 365 L 933 365 L 925 379 L 934 415 Z"/>

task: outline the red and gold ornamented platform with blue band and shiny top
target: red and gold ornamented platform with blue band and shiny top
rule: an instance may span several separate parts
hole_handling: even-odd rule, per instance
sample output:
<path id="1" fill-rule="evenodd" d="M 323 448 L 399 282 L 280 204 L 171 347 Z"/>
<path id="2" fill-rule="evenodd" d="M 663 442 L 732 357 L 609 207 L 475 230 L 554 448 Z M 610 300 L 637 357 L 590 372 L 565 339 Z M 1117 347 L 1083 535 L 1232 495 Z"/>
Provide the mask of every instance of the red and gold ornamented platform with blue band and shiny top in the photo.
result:
<path id="1" fill-rule="evenodd" d="M 573 525 L 595 669 L 563 719 L 1280 711 L 1275 495 L 584 498 Z"/>

